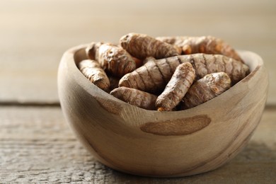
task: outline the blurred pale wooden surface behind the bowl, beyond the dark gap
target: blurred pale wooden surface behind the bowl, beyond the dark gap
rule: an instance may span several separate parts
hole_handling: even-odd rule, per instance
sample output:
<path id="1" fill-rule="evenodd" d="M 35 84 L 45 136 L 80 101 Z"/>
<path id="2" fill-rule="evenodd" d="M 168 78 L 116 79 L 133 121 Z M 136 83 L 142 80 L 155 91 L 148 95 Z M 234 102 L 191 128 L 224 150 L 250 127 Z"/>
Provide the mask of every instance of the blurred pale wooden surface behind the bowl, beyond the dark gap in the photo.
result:
<path id="1" fill-rule="evenodd" d="M 276 1 L 0 1 L 0 102 L 58 103 L 57 68 L 69 47 L 153 37 L 213 35 L 260 54 L 276 104 Z"/>

